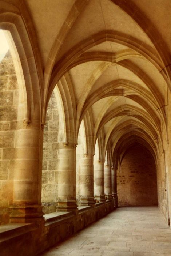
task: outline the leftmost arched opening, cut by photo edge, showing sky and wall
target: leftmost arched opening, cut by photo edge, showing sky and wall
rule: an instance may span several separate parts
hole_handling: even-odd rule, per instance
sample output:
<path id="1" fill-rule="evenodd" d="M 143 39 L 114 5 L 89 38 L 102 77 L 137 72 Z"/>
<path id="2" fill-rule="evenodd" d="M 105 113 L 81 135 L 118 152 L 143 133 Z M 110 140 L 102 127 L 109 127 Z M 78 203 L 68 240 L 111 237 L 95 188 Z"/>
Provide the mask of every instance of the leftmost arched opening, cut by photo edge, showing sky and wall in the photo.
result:
<path id="1" fill-rule="evenodd" d="M 16 176 L 18 126 L 23 123 L 27 97 L 19 55 L 9 31 L 0 30 L 0 224 L 9 222 Z M 22 121 L 21 121 L 22 120 Z"/>

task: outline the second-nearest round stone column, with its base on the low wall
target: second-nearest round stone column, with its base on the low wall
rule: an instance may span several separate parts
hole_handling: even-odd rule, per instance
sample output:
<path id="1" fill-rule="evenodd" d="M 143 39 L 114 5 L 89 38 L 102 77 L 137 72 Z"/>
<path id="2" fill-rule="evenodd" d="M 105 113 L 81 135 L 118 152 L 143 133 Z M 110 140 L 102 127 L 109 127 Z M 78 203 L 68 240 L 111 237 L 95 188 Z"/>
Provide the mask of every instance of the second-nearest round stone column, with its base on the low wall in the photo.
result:
<path id="1" fill-rule="evenodd" d="M 59 143 L 57 211 L 77 211 L 75 159 L 75 144 Z"/>

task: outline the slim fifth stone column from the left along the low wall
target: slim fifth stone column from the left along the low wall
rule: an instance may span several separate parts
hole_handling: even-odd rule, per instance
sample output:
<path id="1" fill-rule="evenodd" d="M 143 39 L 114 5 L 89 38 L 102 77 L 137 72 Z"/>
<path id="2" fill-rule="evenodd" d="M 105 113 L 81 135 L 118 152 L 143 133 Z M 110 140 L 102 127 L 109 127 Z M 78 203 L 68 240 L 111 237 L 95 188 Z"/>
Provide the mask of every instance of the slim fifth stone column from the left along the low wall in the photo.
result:
<path id="1" fill-rule="evenodd" d="M 104 165 L 104 193 L 107 199 L 112 199 L 111 165 Z"/>

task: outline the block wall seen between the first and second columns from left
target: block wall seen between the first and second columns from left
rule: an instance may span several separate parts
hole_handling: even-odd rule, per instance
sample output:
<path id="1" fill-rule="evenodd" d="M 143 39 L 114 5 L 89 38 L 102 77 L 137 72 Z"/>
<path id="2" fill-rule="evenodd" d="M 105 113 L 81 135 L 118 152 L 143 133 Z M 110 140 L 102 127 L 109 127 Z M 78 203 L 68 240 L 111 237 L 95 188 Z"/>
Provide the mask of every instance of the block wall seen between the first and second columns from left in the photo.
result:
<path id="1" fill-rule="evenodd" d="M 43 140 L 43 169 L 41 200 L 45 214 L 56 211 L 59 115 L 55 93 L 49 100 Z"/>

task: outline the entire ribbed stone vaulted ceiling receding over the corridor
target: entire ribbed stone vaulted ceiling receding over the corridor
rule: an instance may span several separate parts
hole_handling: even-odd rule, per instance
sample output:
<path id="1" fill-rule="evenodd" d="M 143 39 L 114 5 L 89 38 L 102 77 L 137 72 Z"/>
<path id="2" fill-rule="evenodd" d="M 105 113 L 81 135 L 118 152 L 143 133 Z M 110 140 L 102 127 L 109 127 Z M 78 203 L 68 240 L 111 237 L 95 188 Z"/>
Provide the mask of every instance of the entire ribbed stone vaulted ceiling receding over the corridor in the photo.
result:
<path id="1" fill-rule="evenodd" d="M 121 154 L 136 142 L 156 155 L 162 132 L 167 134 L 171 1 L 26 3 L 47 99 L 59 80 L 69 77 L 77 129 L 88 113 L 95 138 L 104 134 L 105 148 L 110 144 Z"/>

